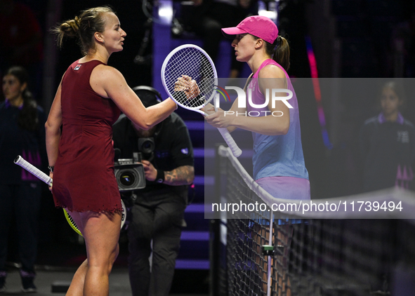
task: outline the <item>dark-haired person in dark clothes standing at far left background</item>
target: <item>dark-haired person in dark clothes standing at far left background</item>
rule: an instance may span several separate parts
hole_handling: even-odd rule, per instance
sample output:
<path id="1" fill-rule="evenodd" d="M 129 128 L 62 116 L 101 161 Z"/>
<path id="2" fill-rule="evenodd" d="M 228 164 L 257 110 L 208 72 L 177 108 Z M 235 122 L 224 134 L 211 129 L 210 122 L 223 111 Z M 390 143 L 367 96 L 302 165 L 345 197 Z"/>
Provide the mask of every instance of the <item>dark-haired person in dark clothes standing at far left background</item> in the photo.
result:
<path id="1" fill-rule="evenodd" d="M 13 215 L 22 291 L 36 292 L 34 262 L 37 256 L 41 182 L 13 162 L 20 155 L 42 169 L 46 157 L 46 118 L 27 88 L 28 80 L 27 71 L 22 67 L 11 67 L 3 77 L 6 101 L 0 104 L 0 292 L 6 290 L 5 264 Z"/>

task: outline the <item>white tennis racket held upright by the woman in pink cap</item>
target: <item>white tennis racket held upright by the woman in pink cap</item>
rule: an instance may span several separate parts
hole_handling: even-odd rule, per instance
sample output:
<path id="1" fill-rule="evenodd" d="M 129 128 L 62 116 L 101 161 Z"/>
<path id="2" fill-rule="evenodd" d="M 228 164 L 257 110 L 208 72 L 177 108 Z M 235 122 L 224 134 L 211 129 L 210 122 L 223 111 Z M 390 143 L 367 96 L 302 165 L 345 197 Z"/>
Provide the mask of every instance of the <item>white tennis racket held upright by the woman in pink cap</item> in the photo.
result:
<path id="1" fill-rule="evenodd" d="M 183 75 L 190 76 L 199 86 L 200 93 L 189 100 L 183 91 L 175 91 L 177 79 Z M 216 96 L 218 74 L 209 55 L 199 46 L 185 44 L 173 49 L 162 65 L 162 83 L 166 93 L 177 105 L 188 110 L 205 114 L 200 110 Z M 238 157 L 242 154 L 227 128 L 218 128 L 220 134 L 230 147 L 232 154 Z"/>

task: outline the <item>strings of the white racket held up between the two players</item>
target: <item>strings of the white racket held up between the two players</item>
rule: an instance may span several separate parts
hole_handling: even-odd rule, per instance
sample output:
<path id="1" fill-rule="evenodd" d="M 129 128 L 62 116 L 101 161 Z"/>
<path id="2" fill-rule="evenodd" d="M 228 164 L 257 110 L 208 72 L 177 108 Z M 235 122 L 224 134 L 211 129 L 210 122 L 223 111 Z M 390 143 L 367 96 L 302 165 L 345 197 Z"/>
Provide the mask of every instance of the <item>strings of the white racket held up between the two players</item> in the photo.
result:
<path id="1" fill-rule="evenodd" d="M 174 91 L 177 79 L 182 76 L 190 76 L 199 86 L 200 95 L 196 99 L 189 100 L 182 91 Z M 206 58 L 197 48 L 183 48 L 175 53 L 166 65 L 164 79 L 174 99 L 180 104 L 190 108 L 199 109 L 204 105 L 202 96 L 211 97 L 215 91 L 215 72 Z M 192 95 L 195 97 L 196 94 Z"/>

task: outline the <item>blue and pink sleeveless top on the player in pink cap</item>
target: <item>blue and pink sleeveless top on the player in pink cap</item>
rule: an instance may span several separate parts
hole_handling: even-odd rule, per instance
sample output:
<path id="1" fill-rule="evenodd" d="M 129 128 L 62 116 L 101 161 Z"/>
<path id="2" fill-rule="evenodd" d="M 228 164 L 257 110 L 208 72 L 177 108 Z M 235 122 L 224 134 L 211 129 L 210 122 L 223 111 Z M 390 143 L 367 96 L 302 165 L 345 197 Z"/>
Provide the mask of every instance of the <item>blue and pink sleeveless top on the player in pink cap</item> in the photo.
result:
<path id="1" fill-rule="evenodd" d="M 256 105 L 265 102 L 265 96 L 261 93 L 258 86 L 259 71 L 267 65 L 276 65 L 284 71 L 287 80 L 288 89 L 293 92 L 293 97 L 287 100 L 294 107 L 289 109 L 290 123 L 289 131 L 286 135 L 261 135 L 252 133 L 253 136 L 253 179 L 258 180 L 262 177 L 300 177 L 308 179 L 308 171 L 305 168 L 303 147 L 301 145 L 300 119 L 298 116 L 298 102 L 296 93 L 291 84 L 288 74 L 274 60 L 265 60 L 258 71 L 253 74 L 248 88 L 252 90 L 252 101 Z M 249 103 L 246 104 L 246 111 L 259 111 L 260 116 L 272 116 L 268 107 L 253 108 Z M 257 114 L 257 113 L 254 113 Z"/>

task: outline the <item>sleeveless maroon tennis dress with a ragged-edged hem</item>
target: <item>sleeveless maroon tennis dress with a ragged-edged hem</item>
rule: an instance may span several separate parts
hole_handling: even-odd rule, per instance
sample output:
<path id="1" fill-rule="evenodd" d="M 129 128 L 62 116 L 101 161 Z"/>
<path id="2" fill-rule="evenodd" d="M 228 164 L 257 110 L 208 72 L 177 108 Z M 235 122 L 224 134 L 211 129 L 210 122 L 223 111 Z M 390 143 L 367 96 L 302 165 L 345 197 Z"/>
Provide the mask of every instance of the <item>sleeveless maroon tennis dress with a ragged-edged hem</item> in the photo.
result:
<path id="1" fill-rule="evenodd" d="M 53 172 L 55 206 L 71 211 L 121 210 L 114 177 L 112 123 L 120 114 L 89 83 L 98 60 L 74 62 L 62 79 L 62 135 Z"/>

